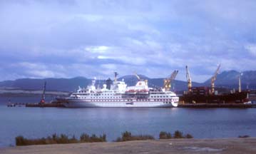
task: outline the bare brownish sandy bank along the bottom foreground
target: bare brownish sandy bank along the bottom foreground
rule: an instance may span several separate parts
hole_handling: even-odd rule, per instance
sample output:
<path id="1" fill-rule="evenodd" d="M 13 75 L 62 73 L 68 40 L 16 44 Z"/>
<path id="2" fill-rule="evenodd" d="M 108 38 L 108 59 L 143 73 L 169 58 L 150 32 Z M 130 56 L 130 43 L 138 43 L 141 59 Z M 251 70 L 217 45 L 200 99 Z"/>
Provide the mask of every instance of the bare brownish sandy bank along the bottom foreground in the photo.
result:
<path id="1" fill-rule="evenodd" d="M 1 154 L 69 153 L 256 153 L 256 138 L 142 140 L 0 148 Z"/>

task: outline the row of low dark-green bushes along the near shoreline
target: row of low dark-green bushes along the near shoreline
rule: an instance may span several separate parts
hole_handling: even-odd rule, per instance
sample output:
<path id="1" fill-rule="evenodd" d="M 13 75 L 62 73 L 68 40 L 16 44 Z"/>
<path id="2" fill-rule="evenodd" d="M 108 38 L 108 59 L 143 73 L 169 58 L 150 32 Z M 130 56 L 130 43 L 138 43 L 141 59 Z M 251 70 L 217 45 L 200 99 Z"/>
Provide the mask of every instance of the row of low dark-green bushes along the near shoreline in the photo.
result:
<path id="1" fill-rule="evenodd" d="M 168 132 L 161 131 L 159 133 L 159 139 L 170 139 L 170 138 L 193 138 L 192 135 L 187 134 L 183 135 L 182 132 L 176 130 L 173 135 Z M 106 142 L 106 134 L 103 135 L 88 135 L 83 133 L 80 135 L 80 139 L 77 139 L 75 135 L 71 138 L 68 138 L 68 135 L 61 134 L 56 135 L 53 134 L 48 136 L 47 138 L 36 138 L 36 139 L 28 139 L 19 135 L 15 138 L 16 145 L 47 145 L 47 144 L 66 144 L 66 143 L 94 143 L 94 142 Z M 125 131 L 122 133 L 121 137 L 118 137 L 115 142 L 123 142 L 129 140 L 155 140 L 152 135 L 132 135 L 130 132 Z"/>

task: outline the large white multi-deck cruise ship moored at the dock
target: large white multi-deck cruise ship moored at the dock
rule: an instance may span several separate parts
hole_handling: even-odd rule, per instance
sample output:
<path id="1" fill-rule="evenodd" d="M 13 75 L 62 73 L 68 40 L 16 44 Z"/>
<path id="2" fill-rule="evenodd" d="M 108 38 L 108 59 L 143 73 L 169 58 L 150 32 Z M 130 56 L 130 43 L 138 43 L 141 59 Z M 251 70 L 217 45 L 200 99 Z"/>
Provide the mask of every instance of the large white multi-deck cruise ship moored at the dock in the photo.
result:
<path id="1" fill-rule="evenodd" d="M 127 86 L 124 81 L 115 80 L 110 86 L 96 88 L 96 79 L 87 88 L 78 88 L 76 93 L 62 99 L 70 108 L 83 107 L 177 107 L 179 98 L 172 91 L 148 87 L 147 80 L 139 80 L 135 86 Z"/>

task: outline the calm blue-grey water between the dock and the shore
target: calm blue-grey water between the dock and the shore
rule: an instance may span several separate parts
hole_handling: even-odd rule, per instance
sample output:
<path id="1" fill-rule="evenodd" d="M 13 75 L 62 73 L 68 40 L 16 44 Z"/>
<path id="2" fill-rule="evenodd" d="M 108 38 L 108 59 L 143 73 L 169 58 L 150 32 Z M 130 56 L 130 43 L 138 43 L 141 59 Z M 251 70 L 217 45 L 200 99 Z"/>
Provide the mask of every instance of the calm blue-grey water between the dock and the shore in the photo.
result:
<path id="1" fill-rule="evenodd" d="M 115 140 L 125 130 L 158 138 L 161 130 L 181 130 L 194 138 L 256 136 L 256 108 L 8 108 L 6 103 L 38 102 L 39 97 L 0 97 L 0 147 L 15 137 L 41 138 L 53 133 L 81 133 Z M 51 98 L 47 98 L 51 100 Z"/>

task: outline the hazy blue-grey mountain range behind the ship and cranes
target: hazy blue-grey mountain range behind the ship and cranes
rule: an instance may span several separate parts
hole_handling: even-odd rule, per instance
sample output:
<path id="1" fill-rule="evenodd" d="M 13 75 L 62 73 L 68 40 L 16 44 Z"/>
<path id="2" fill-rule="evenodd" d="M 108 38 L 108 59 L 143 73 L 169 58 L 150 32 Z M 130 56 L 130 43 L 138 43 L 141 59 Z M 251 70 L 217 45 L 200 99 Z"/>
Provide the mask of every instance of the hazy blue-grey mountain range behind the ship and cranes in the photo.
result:
<path id="1" fill-rule="evenodd" d="M 224 88 L 236 88 L 238 87 L 238 75 L 237 71 L 223 71 L 217 75 L 215 81 L 216 87 Z M 150 87 L 163 87 L 164 78 L 148 78 L 147 76 L 139 75 L 140 78 L 147 79 Z M 195 77 L 194 77 L 195 78 Z M 107 78 L 106 78 L 107 79 Z M 113 78 L 112 78 L 113 79 Z M 242 74 L 242 88 L 245 89 L 249 86 L 250 89 L 256 88 L 256 71 L 244 71 Z M 138 81 L 133 75 L 122 76 L 118 78 L 119 81 L 124 80 L 128 86 L 133 86 Z M 46 81 L 46 90 L 48 91 L 76 91 L 78 86 L 86 87 L 91 84 L 90 78 L 76 77 L 76 78 L 44 78 L 44 79 L 32 79 L 21 78 L 15 81 L 1 81 L 1 88 L 20 88 L 24 90 L 41 90 L 43 83 Z M 102 85 L 105 81 L 97 81 L 96 85 Z M 193 86 L 210 86 L 210 79 L 204 83 L 193 82 Z M 187 89 L 186 81 L 173 81 L 172 88 L 174 91 L 185 91 Z"/>

